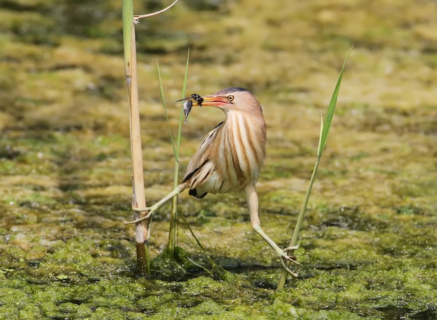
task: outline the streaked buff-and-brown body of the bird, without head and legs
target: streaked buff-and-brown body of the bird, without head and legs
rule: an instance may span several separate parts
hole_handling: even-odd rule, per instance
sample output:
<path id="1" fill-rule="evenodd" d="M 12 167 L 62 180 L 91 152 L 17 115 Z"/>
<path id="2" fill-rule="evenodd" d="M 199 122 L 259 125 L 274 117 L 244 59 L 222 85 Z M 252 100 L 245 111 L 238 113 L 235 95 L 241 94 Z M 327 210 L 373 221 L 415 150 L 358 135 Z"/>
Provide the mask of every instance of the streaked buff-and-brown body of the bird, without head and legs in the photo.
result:
<path id="1" fill-rule="evenodd" d="M 265 129 L 262 113 L 228 112 L 188 163 L 183 182 L 189 184 L 190 194 L 205 197 L 255 184 L 265 159 Z"/>

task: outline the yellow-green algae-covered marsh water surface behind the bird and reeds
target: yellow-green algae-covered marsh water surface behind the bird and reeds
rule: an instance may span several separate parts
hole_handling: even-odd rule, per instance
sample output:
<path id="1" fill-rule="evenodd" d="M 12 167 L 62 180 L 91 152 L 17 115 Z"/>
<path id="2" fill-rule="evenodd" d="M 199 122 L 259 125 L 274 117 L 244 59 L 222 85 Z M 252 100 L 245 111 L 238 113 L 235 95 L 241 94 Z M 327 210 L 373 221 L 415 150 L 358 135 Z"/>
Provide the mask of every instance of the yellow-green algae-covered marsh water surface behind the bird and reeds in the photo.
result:
<path id="1" fill-rule="evenodd" d="M 436 1 L 181 0 L 136 26 L 147 204 L 171 190 L 175 162 L 156 61 L 176 132 L 190 47 L 188 93 L 242 86 L 262 104 L 260 219 L 283 247 L 320 110 L 354 46 L 299 277 L 280 291 L 281 264 L 251 230 L 244 195 L 179 197 L 205 250 L 182 220 L 191 268 L 157 259 L 150 276 L 136 274 L 134 230 L 122 223 L 132 195 L 121 1 L 0 3 L 0 319 L 436 319 Z M 135 13 L 168 3 L 135 1 Z M 181 176 L 223 116 L 193 109 Z M 152 258 L 169 213 L 154 218 Z"/>

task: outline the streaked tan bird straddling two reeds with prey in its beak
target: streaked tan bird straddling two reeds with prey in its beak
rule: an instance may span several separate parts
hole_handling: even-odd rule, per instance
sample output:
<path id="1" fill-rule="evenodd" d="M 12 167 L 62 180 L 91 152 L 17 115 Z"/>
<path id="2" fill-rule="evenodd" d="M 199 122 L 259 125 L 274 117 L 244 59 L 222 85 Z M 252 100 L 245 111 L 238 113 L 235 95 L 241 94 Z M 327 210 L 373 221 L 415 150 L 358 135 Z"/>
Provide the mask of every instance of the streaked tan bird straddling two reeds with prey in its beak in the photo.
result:
<path id="1" fill-rule="evenodd" d="M 286 266 L 286 262 L 298 264 L 295 257 L 288 254 L 296 250 L 297 246 L 281 249 L 261 229 L 258 217 L 255 185 L 265 162 L 267 144 L 267 125 L 260 103 L 250 91 L 240 87 L 223 89 L 205 96 L 193 93 L 191 97 L 176 102 L 181 101 L 190 102 L 189 110 L 191 106 L 216 107 L 225 113 L 226 118 L 203 139 L 188 162 L 182 183 L 153 206 L 133 208 L 134 211 L 145 212 L 145 216 L 125 223 L 137 223 L 150 218 L 165 202 L 186 189 L 189 195 L 197 198 L 203 198 L 208 193 L 243 191 L 253 230 L 272 247 L 288 273 L 296 276 Z"/>

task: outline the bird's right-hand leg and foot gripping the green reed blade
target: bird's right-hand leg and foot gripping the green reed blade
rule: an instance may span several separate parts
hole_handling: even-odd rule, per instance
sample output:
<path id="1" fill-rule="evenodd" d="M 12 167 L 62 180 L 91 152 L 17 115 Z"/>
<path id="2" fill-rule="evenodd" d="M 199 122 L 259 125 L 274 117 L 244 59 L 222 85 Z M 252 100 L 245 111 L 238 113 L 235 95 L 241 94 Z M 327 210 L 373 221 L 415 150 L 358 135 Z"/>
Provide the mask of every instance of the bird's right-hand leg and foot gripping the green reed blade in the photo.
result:
<path id="1" fill-rule="evenodd" d="M 265 232 L 261 229 L 260 218 L 258 217 L 258 194 L 256 193 L 255 185 L 253 183 L 249 183 L 249 185 L 247 185 L 244 189 L 244 192 L 246 192 L 246 201 L 247 206 L 249 206 L 249 213 L 251 215 L 253 230 L 257 234 L 259 234 L 270 247 L 272 247 L 276 255 L 281 260 L 283 268 L 285 268 L 286 271 L 290 273 L 293 277 L 297 277 L 297 273 L 292 272 L 290 268 L 286 266 L 286 261 L 290 261 L 293 264 L 299 264 L 299 262 L 296 261 L 295 257 L 290 257 L 288 255 L 288 252 L 296 250 L 297 246 L 281 249 L 271 238 L 269 238 L 269 236 L 267 236 L 267 234 L 265 234 Z"/>

